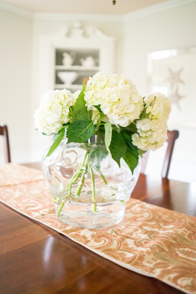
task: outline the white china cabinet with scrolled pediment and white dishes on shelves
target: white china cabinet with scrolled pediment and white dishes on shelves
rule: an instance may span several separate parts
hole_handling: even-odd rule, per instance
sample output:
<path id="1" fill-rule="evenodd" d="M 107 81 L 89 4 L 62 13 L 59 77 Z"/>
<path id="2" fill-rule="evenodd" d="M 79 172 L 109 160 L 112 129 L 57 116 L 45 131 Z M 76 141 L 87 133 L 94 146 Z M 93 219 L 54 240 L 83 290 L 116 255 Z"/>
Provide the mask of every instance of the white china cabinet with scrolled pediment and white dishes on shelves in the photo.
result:
<path id="1" fill-rule="evenodd" d="M 40 95 L 50 89 L 82 89 L 98 71 L 114 71 L 115 38 L 96 27 L 60 27 L 40 37 Z"/>

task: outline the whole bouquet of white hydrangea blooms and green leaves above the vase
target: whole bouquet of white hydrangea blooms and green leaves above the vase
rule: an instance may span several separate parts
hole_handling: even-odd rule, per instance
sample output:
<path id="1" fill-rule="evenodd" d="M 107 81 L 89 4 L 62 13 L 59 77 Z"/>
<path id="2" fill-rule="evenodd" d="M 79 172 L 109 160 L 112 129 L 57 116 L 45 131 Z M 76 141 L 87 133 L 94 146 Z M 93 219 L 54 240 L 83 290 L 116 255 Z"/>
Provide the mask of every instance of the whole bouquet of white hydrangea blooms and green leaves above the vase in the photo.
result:
<path id="1" fill-rule="evenodd" d="M 34 118 L 38 131 L 46 135 L 58 133 L 47 156 L 57 148 L 65 132 L 67 143 L 85 143 L 100 132 L 118 166 L 123 158 L 133 173 L 141 151 L 154 151 L 167 140 L 170 111 L 170 100 L 162 93 L 143 99 L 133 82 L 123 75 L 98 72 L 86 86 L 83 82 L 82 91 L 48 91 Z"/>

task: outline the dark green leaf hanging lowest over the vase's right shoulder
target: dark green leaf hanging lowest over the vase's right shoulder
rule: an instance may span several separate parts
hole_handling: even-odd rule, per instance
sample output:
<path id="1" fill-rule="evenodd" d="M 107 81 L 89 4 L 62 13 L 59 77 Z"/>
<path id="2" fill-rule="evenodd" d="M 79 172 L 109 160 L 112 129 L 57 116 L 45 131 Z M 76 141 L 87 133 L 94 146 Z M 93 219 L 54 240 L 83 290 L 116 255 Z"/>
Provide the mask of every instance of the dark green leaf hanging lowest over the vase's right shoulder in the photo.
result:
<path id="1" fill-rule="evenodd" d="M 123 159 L 127 163 L 128 167 L 130 168 L 130 171 L 133 174 L 133 171 L 138 165 L 138 161 L 139 161 L 138 147 L 133 145 L 131 136 L 123 132 L 121 134 L 123 138 L 125 139 L 125 142 L 128 147 L 123 156 Z"/>

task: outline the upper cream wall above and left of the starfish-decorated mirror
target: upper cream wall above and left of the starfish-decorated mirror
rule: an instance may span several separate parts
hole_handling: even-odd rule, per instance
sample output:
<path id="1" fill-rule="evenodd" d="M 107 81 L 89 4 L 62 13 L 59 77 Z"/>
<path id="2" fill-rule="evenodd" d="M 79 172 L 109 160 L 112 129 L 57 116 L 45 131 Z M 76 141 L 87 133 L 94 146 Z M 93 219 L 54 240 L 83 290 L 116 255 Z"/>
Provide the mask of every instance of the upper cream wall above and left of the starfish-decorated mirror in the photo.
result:
<path id="1" fill-rule="evenodd" d="M 196 3 L 125 22 L 123 72 L 142 96 L 148 91 L 147 53 L 196 46 Z"/>

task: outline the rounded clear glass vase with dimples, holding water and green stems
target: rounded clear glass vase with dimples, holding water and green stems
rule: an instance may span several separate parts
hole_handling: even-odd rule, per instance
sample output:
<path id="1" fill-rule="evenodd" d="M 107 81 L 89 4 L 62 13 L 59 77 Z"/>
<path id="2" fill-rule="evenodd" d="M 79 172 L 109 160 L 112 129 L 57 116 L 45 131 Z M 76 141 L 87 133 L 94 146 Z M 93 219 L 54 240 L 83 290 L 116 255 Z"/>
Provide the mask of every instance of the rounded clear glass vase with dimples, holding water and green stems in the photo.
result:
<path id="1" fill-rule="evenodd" d="M 122 158 L 119 168 L 99 135 L 82 144 L 66 144 L 64 139 L 45 158 L 47 153 L 43 171 L 59 220 L 75 227 L 104 228 L 123 219 L 140 161 L 133 175 Z"/>

